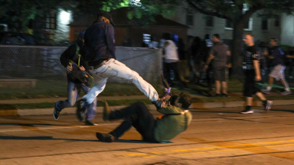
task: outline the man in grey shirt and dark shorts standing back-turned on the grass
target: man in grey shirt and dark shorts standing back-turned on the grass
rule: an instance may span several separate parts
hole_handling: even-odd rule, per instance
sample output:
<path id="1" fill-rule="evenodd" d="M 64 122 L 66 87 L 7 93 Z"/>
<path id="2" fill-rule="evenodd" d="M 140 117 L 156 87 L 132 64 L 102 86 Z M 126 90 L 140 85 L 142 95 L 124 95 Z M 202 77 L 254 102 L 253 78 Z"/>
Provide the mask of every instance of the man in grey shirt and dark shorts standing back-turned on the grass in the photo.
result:
<path id="1" fill-rule="evenodd" d="M 227 82 L 225 81 L 225 70 L 227 68 L 227 58 L 231 55 L 229 47 L 220 41 L 219 34 L 213 35 L 213 42 L 214 45 L 210 49 L 209 58 L 204 65 L 203 70 L 206 71 L 208 68 L 209 63 L 213 59 L 213 76 L 216 82 L 216 96 L 225 96 L 229 97 L 228 95 L 228 87 Z M 222 94 L 220 94 L 220 82 L 222 85 Z"/>

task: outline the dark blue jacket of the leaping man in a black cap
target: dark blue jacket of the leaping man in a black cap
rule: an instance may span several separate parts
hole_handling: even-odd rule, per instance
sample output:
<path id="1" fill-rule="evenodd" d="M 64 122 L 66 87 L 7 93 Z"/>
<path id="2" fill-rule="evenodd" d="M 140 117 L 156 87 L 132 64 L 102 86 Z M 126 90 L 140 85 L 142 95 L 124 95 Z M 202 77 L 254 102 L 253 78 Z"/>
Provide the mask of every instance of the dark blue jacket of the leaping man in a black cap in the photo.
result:
<path id="1" fill-rule="evenodd" d="M 81 53 L 85 61 L 115 58 L 114 29 L 111 24 L 101 20 L 94 21 L 87 28 L 84 40 Z"/>

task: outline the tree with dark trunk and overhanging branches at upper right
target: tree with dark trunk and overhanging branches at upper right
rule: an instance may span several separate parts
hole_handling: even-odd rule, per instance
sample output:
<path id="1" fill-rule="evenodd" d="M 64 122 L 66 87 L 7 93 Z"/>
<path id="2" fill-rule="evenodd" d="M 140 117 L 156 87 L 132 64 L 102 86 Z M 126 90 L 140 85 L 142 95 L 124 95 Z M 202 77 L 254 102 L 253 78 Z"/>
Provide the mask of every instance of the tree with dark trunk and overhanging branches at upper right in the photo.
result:
<path id="1" fill-rule="evenodd" d="M 191 8 L 203 14 L 229 19 L 233 23 L 233 70 L 238 67 L 243 27 L 258 11 L 259 16 L 269 18 L 277 13 L 293 14 L 293 0 L 186 0 Z"/>

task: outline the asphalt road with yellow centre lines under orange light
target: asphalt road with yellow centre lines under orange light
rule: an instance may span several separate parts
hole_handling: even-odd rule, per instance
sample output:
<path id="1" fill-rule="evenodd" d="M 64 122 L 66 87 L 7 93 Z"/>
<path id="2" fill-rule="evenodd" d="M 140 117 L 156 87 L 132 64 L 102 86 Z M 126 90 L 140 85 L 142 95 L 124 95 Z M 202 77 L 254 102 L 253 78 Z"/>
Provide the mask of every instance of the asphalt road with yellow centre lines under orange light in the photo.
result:
<path id="1" fill-rule="evenodd" d="M 218 165 L 294 164 L 294 105 L 268 113 L 240 114 L 241 108 L 193 109 L 186 132 L 165 144 L 146 143 L 134 128 L 113 143 L 99 142 L 119 121 L 74 115 L 0 117 L 1 165 Z M 260 111 L 259 111 L 260 112 Z M 159 113 L 152 111 L 154 116 Z"/>

